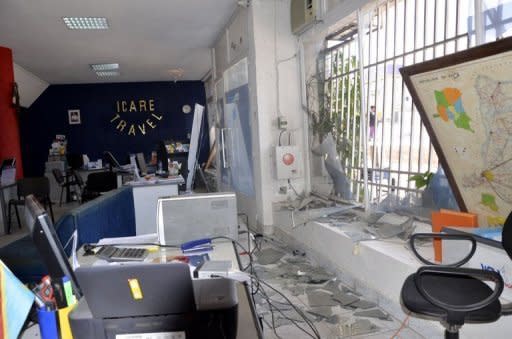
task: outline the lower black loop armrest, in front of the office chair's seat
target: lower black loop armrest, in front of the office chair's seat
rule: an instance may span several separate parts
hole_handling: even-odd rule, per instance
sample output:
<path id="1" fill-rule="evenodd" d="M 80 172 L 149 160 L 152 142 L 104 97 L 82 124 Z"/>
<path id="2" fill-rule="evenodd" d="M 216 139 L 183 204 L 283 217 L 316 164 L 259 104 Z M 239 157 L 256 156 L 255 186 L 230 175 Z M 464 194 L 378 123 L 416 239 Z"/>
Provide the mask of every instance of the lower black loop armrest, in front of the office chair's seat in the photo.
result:
<path id="1" fill-rule="evenodd" d="M 422 276 L 426 273 L 434 273 L 439 275 L 456 275 L 461 277 L 473 277 L 476 279 L 493 281 L 495 283 L 494 291 L 490 296 L 481 300 L 479 302 L 468 304 L 468 305 L 452 305 L 446 302 L 443 302 L 439 299 L 431 296 L 424 288 L 422 283 Z M 476 268 L 460 268 L 460 267 L 436 267 L 436 266 L 423 266 L 418 269 L 416 275 L 414 276 L 414 282 L 416 283 L 416 287 L 421 295 L 427 299 L 432 304 L 440 307 L 444 310 L 451 312 L 471 312 L 483 307 L 488 306 L 496 299 L 498 299 L 503 292 L 503 278 L 501 275 L 494 271 L 489 270 L 481 270 Z"/>

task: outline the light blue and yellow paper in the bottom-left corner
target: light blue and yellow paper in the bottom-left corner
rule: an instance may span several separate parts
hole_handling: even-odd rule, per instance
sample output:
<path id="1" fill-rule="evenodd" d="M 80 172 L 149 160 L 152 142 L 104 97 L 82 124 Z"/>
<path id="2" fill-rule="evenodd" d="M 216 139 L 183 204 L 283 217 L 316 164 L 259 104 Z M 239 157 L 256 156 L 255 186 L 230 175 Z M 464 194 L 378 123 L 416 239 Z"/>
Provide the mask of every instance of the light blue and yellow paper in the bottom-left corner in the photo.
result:
<path id="1" fill-rule="evenodd" d="M 14 339 L 27 319 L 34 294 L 0 260 L 0 338 Z"/>

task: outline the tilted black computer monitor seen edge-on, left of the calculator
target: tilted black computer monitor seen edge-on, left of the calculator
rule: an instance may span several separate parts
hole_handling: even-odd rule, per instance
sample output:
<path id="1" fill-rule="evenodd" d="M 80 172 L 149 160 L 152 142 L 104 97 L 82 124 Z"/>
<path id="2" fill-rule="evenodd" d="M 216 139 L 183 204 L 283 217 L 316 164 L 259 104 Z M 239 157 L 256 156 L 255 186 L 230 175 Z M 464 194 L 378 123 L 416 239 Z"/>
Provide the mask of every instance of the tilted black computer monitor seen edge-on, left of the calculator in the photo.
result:
<path id="1" fill-rule="evenodd" d="M 53 224 L 44 208 L 32 194 L 25 198 L 25 221 L 50 277 L 59 279 L 67 276 L 75 296 L 81 297 L 82 292 Z"/>

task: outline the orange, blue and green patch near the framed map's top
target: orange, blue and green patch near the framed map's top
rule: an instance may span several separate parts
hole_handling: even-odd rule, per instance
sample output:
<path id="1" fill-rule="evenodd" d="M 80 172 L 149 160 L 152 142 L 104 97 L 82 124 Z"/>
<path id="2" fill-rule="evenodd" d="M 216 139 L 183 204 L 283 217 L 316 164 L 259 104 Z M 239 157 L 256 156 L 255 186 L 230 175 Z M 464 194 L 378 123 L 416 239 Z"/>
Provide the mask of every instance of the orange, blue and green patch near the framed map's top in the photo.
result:
<path id="1" fill-rule="evenodd" d="M 457 88 L 445 88 L 442 91 L 434 91 L 437 113 L 434 117 L 443 121 L 453 121 L 457 128 L 475 132 L 470 125 L 471 118 L 464 111 L 462 105 L 462 93 Z"/>

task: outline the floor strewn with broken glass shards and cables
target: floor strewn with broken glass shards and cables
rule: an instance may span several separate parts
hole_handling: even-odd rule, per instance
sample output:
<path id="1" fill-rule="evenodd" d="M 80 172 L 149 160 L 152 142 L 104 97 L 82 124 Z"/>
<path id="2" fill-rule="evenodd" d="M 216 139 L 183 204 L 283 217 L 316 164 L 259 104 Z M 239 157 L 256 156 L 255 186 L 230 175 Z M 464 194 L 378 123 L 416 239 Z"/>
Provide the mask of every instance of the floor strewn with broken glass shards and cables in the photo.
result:
<path id="1" fill-rule="evenodd" d="M 423 338 L 406 324 L 402 326 L 404 319 L 391 317 L 371 300 L 344 286 L 306 253 L 266 238 L 257 243 L 253 252 L 257 277 L 288 298 L 318 331 L 315 335 L 280 293 L 254 283 L 254 300 L 265 338 Z M 248 256 L 243 257 L 247 265 Z M 364 312 L 380 318 L 364 316 Z"/>

